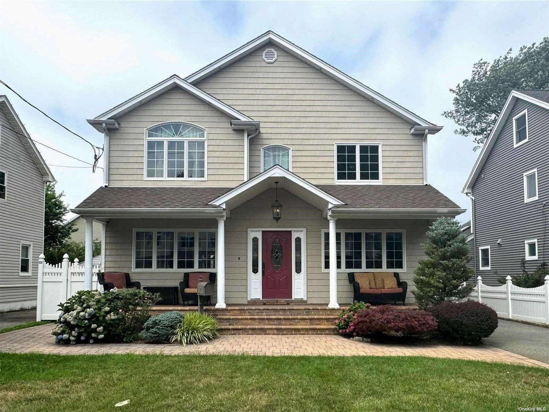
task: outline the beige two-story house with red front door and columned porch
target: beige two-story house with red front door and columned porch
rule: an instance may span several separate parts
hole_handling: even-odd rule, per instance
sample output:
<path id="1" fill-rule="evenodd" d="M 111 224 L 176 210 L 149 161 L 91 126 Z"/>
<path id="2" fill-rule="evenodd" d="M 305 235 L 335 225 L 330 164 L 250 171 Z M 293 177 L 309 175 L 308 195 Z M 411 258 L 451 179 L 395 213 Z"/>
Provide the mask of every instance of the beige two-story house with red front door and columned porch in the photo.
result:
<path id="1" fill-rule="evenodd" d="M 105 164 L 104 185 L 72 210 L 86 253 L 102 221 L 105 270 L 142 286 L 215 272 L 217 308 L 338 308 L 355 271 L 410 282 L 429 222 L 464 211 L 427 182 L 441 126 L 272 31 L 88 123 Z"/>

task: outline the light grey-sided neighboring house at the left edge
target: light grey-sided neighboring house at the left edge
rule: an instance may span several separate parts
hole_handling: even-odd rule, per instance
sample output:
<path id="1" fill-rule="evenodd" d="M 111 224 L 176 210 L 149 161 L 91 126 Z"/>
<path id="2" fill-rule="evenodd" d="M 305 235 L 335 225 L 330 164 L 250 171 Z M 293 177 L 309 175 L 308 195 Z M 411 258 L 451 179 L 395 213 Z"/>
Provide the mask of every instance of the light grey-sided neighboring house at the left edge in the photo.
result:
<path id="1" fill-rule="evenodd" d="M 0 96 L 0 311 L 36 307 L 44 196 L 52 172 L 6 96 Z"/>

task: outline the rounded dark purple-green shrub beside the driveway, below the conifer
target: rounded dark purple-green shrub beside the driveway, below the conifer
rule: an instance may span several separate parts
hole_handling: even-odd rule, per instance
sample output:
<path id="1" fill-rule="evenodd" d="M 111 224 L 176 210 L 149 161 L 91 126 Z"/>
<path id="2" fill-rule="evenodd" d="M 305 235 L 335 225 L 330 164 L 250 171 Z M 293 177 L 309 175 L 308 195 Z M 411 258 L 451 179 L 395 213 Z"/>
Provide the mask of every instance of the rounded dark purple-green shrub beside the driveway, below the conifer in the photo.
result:
<path id="1" fill-rule="evenodd" d="M 438 322 L 438 335 L 446 341 L 478 345 L 497 328 L 496 311 L 475 300 L 440 303 L 429 311 Z"/>

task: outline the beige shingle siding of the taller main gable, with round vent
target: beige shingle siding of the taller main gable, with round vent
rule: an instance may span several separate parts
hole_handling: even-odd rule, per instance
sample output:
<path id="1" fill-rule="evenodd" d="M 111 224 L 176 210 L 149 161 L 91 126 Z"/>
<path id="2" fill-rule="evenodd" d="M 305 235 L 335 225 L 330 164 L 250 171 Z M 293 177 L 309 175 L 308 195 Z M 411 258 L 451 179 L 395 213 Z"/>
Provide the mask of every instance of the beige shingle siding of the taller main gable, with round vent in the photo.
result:
<path id="1" fill-rule="evenodd" d="M 261 121 L 250 177 L 267 144 L 291 147 L 292 171 L 304 179 L 333 183 L 335 142 L 380 142 L 383 183 L 423 183 L 422 139 L 410 135 L 410 124 L 277 47 L 276 62 L 265 63 L 266 47 L 197 83 Z"/>

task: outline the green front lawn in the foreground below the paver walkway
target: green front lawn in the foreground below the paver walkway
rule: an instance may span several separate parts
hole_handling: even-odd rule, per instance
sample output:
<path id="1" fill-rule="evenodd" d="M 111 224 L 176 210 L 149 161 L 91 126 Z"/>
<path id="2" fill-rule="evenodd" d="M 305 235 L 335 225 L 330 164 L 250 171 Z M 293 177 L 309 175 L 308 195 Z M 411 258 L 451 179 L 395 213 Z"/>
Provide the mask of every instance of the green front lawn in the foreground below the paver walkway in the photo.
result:
<path id="1" fill-rule="evenodd" d="M 12 412 L 549 406 L 549 370 L 460 359 L 0 353 L 0 364 L 0 411 Z"/>

